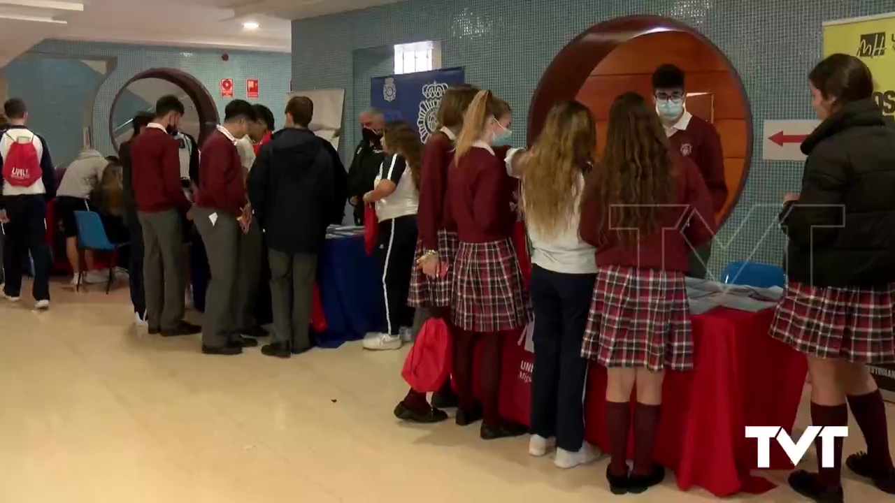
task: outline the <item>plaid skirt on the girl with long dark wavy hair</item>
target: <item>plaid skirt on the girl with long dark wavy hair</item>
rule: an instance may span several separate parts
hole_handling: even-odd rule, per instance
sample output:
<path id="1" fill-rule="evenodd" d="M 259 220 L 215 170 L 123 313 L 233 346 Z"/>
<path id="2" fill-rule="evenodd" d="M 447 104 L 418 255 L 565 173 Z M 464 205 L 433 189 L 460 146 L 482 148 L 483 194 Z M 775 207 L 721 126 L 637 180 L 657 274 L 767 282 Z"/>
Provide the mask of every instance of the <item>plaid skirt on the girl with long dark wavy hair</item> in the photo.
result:
<path id="1" fill-rule="evenodd" d="M 598 268 L 581 354 L 607 368 L 693 369 L 684 274 L 627 266 Z"/>

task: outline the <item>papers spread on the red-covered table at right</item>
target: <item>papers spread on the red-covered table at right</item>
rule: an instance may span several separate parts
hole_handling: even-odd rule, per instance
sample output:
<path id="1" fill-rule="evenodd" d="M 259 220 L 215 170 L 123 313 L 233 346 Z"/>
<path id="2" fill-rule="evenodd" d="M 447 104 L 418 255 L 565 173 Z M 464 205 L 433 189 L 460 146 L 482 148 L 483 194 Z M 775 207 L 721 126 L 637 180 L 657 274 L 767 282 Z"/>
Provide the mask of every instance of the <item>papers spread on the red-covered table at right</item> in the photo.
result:
<path id="1" fill-rule="evenodd" d="M 718 281 L 687 277 L 686 295 L 690 300 L 690 312 L 693 314 L 710 311 L 719 306 L 758 312 L 777 305 L 783 295 L 783 289 L 779 286 L 758 288 L 726 285 Z"/>

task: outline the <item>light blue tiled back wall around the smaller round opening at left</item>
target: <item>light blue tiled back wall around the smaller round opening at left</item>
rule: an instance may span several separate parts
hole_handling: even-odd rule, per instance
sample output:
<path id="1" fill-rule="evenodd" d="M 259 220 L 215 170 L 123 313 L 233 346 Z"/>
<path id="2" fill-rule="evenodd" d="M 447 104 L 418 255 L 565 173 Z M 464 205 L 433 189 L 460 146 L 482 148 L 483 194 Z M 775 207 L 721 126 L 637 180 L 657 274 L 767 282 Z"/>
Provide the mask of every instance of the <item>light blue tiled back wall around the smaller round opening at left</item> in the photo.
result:
<path id="1" fill-rule="evenodd" d="M 223 52 L 230 55 L 229 61 L 221 60 Z M 105 81 L 102 77 L 97 80 L 96 72 L 92 76 L 72 72 L 70 64 L 59 63 L 103 58 L 115 60 L 114 70 Z M 53 59 L 57 61 L 54 63 Z M 43 63 L 35 64 L 35 60 Z M 103 153 L 114 151 L 108 129 L 115 94 L 134 75 L 150 68 L 176 68 L 192 74 L 209 90 L 222 116 L 227 101 L 232 98 L 220 97 L 220 80 L 232 78 L 234 98 L 245 99 L 245 80 L 257 78 L 259 98 L 249 101 L 269 107 L 277 124 L 282 125 L 291 78 L 290 62 L 291 56 L 285 53 L 45 40 L 13 60 L 4 69 L 4 75 L 9 81 L 10 96 L 19 92 L 28 101 L 31 126 L 47 136 L 56 164 L 64 164 L 80 150 L 81 128 L 86 125 L 82 114 L 94 96 L 91 119 L 94 143 Z M 98 92 L 94 95 L 92 90 L 98 83 Z"/>

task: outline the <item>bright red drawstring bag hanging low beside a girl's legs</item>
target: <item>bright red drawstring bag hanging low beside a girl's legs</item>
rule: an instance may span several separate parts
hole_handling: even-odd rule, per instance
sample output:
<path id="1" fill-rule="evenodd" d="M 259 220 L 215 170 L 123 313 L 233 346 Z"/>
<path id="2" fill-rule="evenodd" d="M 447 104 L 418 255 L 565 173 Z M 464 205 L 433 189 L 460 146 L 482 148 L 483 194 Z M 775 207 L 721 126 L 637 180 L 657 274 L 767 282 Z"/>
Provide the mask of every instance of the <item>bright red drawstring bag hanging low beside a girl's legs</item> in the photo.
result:
<path id="1" fill-rule="evenodd" d="M 401 377 L 415 391 L 438 391 L 450 375 L 454 362 L 454 345 L 447 323 L 440 318 L 430 318 L 422 324 L 416 342 L 401 369 Z"/>

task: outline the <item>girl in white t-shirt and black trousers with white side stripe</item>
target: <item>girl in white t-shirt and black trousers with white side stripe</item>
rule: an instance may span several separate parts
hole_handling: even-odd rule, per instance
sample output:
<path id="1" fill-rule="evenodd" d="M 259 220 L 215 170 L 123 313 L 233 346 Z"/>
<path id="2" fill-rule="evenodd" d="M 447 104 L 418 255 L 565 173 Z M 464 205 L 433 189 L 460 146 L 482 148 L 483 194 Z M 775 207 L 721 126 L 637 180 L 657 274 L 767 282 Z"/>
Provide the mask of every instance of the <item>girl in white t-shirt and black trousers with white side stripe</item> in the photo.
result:
<path id="1" fill-rule="evenodd" d="M 366 349 L 398 349 L 403 344 L 402 328 L 413 323 L 413 309 L 407 306 L 410 276 L 416 252 L 416 208 L 420 200 L 420 135 L 410 124 L 388 124 L 382 137 L 388 157 L 379 166 L 373 190 L 363 202 L 374 204 L 379 219 L 376 255 L 382 270 L 382 291 L 386 298 L 386 329 L 363 341 Z"/>

